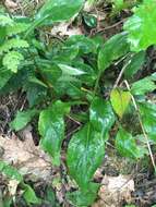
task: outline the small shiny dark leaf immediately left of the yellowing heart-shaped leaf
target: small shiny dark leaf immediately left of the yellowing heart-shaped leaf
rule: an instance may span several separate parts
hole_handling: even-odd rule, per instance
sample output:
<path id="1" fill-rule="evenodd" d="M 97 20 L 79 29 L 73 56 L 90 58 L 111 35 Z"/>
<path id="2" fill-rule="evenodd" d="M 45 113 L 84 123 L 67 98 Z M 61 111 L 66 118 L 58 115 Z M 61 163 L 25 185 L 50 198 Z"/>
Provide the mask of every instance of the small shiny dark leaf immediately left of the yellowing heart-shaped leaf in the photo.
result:
<path id="1" fill-rule="evenodd" d="M 109 101 L 95 98 L 89 108 L 89 121 L 92 126 L 105 137 L 115 122 L 115 114 Z"/>

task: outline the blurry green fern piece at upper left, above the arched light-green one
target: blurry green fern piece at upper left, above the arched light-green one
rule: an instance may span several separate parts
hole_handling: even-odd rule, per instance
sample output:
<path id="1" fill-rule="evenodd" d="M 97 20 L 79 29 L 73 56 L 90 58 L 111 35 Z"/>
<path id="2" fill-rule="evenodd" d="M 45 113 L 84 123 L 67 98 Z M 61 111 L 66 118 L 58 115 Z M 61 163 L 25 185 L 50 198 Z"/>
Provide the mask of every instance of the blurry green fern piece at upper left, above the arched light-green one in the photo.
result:
<path id="1" fill-rule="evenodd" d="M 29 24 L 26 23 L 14 23 L 13 25 L 7 26 L 7 36 L 16 35 L 27 31 Z"/>

